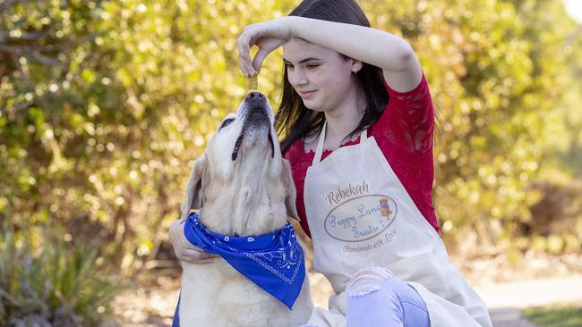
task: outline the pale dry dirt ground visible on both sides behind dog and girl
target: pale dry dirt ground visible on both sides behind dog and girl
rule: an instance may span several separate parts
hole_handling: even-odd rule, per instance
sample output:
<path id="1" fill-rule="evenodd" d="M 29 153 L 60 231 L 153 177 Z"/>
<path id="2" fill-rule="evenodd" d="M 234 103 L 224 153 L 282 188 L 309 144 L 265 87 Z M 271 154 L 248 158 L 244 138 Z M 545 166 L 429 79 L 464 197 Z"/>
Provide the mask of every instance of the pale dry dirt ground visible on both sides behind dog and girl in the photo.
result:
<path id="1" fill-rule="evenodd" d="M 475 288 L 502 282 L 567 278 L 582 273 L 582 255 L 548 256 L 526 254 L 514 264 L 505 256 L 490 258 L 452 257 L 453 264 Z M 309 265 L 308 265 L 309 266 Z M 135 279 L 133 286 L 116 298 L 114 318 L 103 326 L 170 326 L 180 287 L 179 266 L 152 270 Z M 310 272 L 313 300 L 327 307 L 332 290 L 325 278 Z"/>

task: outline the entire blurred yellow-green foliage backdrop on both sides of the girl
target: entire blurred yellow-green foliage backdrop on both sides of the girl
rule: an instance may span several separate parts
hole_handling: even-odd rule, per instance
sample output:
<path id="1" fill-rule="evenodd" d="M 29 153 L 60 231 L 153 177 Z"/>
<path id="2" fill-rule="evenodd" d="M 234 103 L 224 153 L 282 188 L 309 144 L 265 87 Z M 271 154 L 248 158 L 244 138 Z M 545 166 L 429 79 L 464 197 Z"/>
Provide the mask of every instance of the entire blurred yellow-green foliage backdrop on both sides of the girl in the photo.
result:
<path id="1" fill-rule="evenodd" d="M 443 237 L 517 247 L 540 172 L 581 173 L 579 28 L 560 0 L 361 3 L 373 27 L 413 45 L 431 85 Z M 0 2 L 0 218 L 62 222 L 117 266 L 142 267 L 244 96 L 236 37 L 295 4 Z M 275 107 L 281 76 L 278 51 L 259 79 Z"/>

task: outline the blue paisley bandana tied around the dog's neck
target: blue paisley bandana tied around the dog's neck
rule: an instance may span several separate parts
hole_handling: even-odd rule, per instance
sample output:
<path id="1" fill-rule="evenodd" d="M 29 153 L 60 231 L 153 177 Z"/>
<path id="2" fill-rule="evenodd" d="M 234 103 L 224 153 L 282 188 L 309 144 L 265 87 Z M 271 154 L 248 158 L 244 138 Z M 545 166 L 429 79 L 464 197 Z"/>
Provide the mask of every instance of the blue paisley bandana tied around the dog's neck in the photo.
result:
<path id="1" fill-rule="evenodd" d="M 225 236 L 209 231 L 198 214 L 191 213 L 184 235 L 205 252 L 222 256 L 289 309 L 299 296 L 305 278 L 304 252 L 289 222 L 278 231 L 259 236 Z"/>

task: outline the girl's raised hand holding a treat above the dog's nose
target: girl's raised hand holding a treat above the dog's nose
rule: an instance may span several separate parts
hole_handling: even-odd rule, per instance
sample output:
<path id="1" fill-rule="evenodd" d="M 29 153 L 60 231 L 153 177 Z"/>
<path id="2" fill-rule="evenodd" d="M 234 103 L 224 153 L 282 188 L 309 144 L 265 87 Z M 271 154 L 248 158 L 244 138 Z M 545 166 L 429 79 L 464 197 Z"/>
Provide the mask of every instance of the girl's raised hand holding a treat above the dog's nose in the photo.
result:
<path id="1" fill-rule="evenodd" d="M 244 77 L 251 77 L 261 71 L 262 62 L 267 55 L 292 38 L 290 20 L 291 17 L 281 17 L 248 25 L 243 29 L 243 34 L 236 43 Z M 251 59 L 252 46 L 258 46 L 259 50 Z"/>

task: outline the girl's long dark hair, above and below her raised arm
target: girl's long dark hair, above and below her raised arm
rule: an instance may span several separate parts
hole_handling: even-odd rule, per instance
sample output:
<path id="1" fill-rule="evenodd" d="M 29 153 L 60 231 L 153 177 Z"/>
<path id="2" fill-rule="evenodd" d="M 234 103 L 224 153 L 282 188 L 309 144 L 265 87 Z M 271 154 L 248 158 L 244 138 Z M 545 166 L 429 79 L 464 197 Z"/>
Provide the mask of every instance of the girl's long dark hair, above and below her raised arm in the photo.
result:
<path id="1" fill-rule="evenodd" d="M 370 27 L 364 11 L 354 0 L 304 0 L 289 16 L 300 16 L 322 21 L 335 21 Z M 341 38 L 338 36 L 338 38 Z M 347 58 L 346 55 L 343 55 Z M 347 138 L 376 122 L 389 100 L 381 68 L 369 63 L 355 74 L 359 91 L 365 96 L 366 108 L 360 124 Z M 287 80 L 287 63 L 283 66 L 281 105 L 278 107 L 275 128 L 283 136 L 281 151 L 285 152 L 295 140 L 304 138 L 312 130 L 321 130 L 325 115 L 305 107 L 304 102 Z"/>

